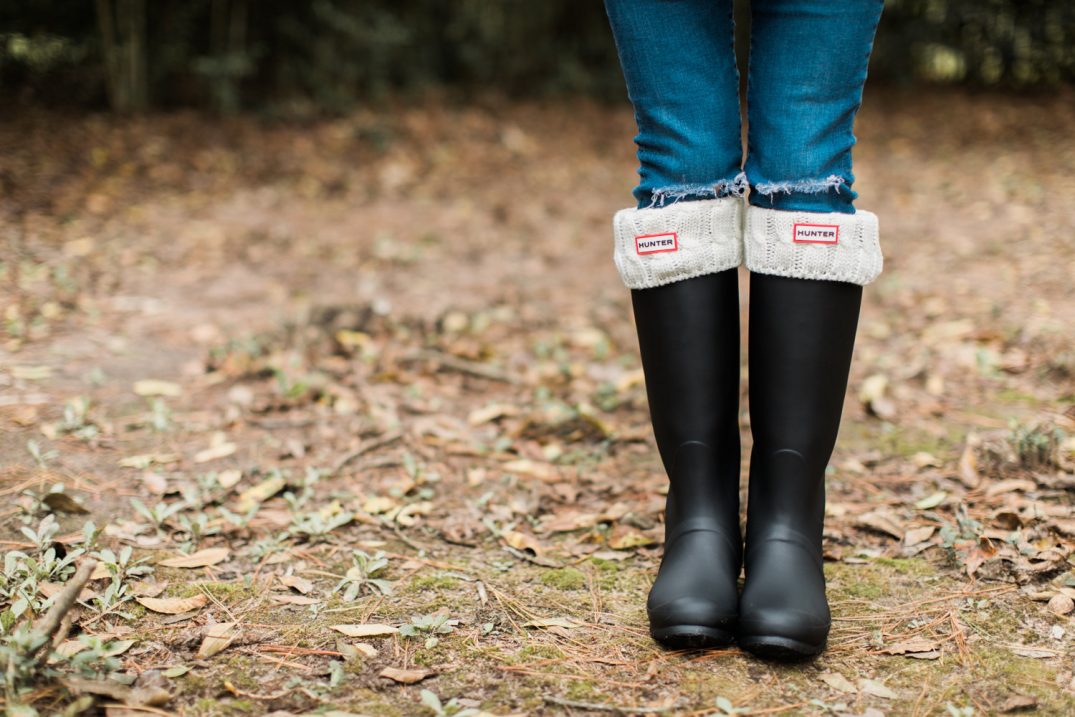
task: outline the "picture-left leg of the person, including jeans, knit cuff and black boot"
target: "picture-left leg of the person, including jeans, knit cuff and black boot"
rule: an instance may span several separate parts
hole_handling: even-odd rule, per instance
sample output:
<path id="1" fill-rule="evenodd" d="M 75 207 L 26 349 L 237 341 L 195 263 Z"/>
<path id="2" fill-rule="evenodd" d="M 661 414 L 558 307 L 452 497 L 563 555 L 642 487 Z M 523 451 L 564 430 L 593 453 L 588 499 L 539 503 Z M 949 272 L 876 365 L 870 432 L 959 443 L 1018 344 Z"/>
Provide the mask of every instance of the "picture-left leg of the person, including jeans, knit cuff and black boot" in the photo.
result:
<path id="1" fill-rule="evenodd" d="M 664 554 L 646 602 L 673 647 L 734 633 L 744 188 L 731 0 L 606 0 L 639 134 L 636 207 L 614 219 L 654 434 Z"/>

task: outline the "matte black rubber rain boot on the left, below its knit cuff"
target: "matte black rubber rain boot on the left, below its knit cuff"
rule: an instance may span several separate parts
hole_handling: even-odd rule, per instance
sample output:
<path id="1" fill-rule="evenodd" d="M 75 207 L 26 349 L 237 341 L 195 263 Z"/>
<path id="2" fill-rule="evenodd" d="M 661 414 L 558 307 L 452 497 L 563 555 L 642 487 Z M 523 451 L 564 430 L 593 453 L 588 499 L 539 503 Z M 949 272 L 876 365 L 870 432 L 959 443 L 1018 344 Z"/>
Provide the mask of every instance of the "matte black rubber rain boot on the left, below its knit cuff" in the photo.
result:
<path id="1" fill-rule="evenodd" d="M 669 475 L 664 554 L 646 601 L 673 648 L 729 644 L 742 564 L 739 526 L 739 275 L 632 289 L 649 414 Z"/>

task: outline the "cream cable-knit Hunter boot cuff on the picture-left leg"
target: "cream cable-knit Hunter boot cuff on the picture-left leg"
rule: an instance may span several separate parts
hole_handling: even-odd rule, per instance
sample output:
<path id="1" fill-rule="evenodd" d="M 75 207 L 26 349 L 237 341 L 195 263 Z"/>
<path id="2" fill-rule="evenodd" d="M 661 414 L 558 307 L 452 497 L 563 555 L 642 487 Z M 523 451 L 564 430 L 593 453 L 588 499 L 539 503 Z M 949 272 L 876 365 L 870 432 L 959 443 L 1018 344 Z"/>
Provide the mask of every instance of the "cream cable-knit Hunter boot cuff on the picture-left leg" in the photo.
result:
<path id="1" fill-rule="evenodd" d="M 613 219 L 613 261 L 629 289 L 648 289 L 743 262 L 739 197 L 626 209 Z"/>

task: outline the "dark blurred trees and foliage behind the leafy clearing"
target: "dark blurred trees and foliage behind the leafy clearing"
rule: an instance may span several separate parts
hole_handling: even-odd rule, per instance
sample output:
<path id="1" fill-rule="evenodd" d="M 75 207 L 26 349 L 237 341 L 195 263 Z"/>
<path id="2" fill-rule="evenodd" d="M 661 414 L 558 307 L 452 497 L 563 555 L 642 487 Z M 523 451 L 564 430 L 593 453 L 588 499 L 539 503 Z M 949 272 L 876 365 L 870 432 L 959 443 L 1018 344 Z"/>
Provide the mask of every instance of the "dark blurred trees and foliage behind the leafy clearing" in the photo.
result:
<path id="1" fill-rule="evenodd" d="M 887 0 L 871 78 L 1071 84 L 1075 2 Z M 600 0 L 0 0 L 5 104 L 303 114 L 430 88 L 625 96 Z"/>

